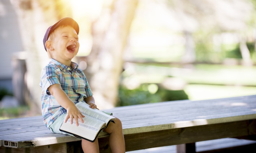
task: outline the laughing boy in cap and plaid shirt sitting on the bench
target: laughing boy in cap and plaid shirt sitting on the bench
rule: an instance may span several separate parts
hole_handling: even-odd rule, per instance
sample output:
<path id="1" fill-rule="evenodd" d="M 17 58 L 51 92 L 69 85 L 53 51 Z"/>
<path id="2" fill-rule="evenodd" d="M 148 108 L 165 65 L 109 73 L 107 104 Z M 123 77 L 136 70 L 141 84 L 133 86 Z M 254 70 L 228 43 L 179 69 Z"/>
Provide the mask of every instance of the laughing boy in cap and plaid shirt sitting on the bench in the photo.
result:
<path id="1" fill-rule="evenodd" d="M 71 119 L 78 126 L 78 120 L 83 122 L 83 115 L 75 104 L 86 102 L 90 108 L 97 108 L 87 79 L 78 65 L 71 62 L 78 53 L 79 26 L 72 18 L 63 18 L 45 32 L 44 49 L 51 59 L 41 72 L 40 87 L 42 88 L 42 114 L 44 124 L 54 133 L 61 132 L 62 121 Z M 122 133 L 122 123 L 116 119 L 103 130 L 110 134 L 109 144 L 113 153 L 125 153 L 125 141 Z M 82 139 L 84 153 L 99 153 L 96 139 L 93 143 Z"/>

